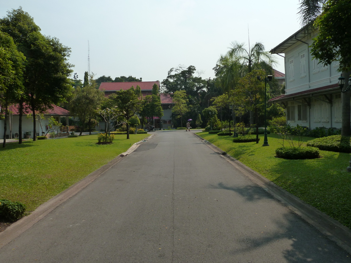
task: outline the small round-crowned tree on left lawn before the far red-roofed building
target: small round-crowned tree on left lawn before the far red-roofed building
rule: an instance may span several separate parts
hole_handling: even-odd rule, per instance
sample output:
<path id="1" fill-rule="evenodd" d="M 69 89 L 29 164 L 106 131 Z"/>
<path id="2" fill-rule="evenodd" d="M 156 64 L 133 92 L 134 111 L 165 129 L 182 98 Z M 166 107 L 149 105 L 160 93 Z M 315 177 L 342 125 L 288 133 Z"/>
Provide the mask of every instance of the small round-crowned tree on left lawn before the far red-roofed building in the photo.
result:
<path id="1" fill-rule="evenodd" d="M 117 106 L 124 112 L 124 118 L 127 121 L 127 139 L 129 139 L 129 119 L 141 109 L 140 100 L 132 89 L 119 90 L 109 96 L 109 102 L 113 107 Z"/>

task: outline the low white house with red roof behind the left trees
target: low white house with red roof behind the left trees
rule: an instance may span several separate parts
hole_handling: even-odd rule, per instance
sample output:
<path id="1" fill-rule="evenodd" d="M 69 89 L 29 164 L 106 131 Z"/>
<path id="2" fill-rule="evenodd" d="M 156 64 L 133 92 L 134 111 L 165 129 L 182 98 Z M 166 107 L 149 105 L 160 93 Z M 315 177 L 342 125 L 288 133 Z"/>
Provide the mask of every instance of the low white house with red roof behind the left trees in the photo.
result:
<path id="1" fill-rule="evenodd" d="M 68 119 L 68 116 L 70 116 L 68 110 L 65 110 L 61 107 L 58 107 L 56 105 L 52 105 L 53 109 L 48 109 L 47 112 L 44 113 L 44 118 L 40 122 L 36 121 L 36 130 L 37 130 L 37 136 L 41 135 L 42 132 L 46 133 L 49 128 L 49 122 L 48 122 L 48 117 L 53 116 L 55 119 L 60 122 L 60 119 L 62 116 L 66 116 Z M 18 125 L 19 125 L 19 107 L 18 104 L 11 105 L 10 106 L 11 112 L 13 112 L 12 117 L 11 117 L 11 126 L 12 126 L 12 134 L 18 134 Z M 22 137 L 25 138 L 25 133 L 26 131 L 31 131 L 31 138 L 33 138 L 33 118 L 28 118 L 27 114 L 30 114 L 30 110 L 25 110 L 23 113 L 22 117 Z M 10 117 L 7 116 L 7 134 L 10 134 Z M 41 125 L 40 125 L 41 123 Z M 59 127 L 53 127 L 56 128 L 54 130 L 55 133 L 60 133 Z M 16 136 L 13 136 L 16 137 Z M 18 137 L 17 137 L 18 138 Z M 4 139 L 4 120 L 0 120 L 0 139 Z"/>

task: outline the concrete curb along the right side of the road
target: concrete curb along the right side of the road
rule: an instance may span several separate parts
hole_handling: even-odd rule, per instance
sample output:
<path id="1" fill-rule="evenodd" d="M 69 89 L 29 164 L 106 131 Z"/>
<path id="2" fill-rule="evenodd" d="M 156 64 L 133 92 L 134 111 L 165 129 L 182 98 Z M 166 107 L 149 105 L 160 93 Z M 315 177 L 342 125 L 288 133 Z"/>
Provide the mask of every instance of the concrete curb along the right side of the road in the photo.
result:
<path id="1" fill-rule="evenodd" d="M 322 213 L 318 209 L 300 200 L 296 196 L 290 194 L 283 188 L 277 186 L 275 183 L 263 177 L 256 171 L 245 166 L 245 164 L 234 159 L 232 156 L 212 143 L 204 140 L 197 134 L 194 134 L 198 139 L 202 140 L 208 147 L 210 147 L 216 153 L 222 155 L 229 163 L 235 168 L 241 171 L 247 176 L 252 182 L 263 188 L 279 202 L 283 203 L 291 211 L 299 215 L 307 223 L 311 224 L 314 228 L 319 230 L 331 241 L 335 242 L 339 247 L 343 248 L 346 252 L 351 254 L 351 230 L 345 227 L 343 224 L 334 220 L 330 216 Z"/>

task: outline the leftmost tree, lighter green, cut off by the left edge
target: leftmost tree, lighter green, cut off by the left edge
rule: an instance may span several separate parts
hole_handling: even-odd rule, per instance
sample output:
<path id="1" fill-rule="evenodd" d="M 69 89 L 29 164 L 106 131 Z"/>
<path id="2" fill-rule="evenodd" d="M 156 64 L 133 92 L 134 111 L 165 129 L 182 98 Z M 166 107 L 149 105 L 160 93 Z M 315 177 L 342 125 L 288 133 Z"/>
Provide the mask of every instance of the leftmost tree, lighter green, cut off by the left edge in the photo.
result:
<path id="1" fill-rule="evenodd" d="M 25 56 L 17 50 L 11 36 L 0 31 L 0 100 L 5 108 L 4 142 L 6 143 L 7 108 L 23 93 Z"/>

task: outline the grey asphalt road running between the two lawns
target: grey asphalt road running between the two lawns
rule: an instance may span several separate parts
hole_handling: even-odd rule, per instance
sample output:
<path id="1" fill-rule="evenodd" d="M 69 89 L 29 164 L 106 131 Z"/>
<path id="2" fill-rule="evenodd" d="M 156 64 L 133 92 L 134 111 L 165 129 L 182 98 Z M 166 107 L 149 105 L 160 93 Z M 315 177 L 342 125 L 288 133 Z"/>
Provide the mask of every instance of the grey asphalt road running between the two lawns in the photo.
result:
<path id="1" fill-rule="evenodd" d="M 351 256 L 192 133 L 162 131 L 1 248 L 0 262 L 342 263 Z"/>

